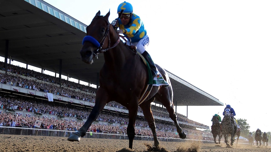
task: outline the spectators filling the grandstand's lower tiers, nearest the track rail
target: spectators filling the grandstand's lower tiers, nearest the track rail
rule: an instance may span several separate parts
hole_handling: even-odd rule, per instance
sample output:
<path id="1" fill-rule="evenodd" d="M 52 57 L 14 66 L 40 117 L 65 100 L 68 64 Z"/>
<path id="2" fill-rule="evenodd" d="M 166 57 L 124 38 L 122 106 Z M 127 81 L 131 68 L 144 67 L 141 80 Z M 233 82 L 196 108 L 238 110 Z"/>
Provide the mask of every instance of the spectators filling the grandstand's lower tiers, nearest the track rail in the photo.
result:
<path id="1" fill-rule="evenodd" d="M 47 103 L 36 103 L 31 101 L 17 100 L 15 98 L 0 98 L 0 107 L 5 109 L 14 109 L 22 110 L 36 113 L 45 113 L 52 115 L 62 115 L 71 118 L 84 118 L 86 119 L 90 112 L 79 110 L 76 108 L 67 108 L 63 106 L 52 106 Z M 17 109 L 16 109 L 17 108 Z M 83 125 L 83 122 L 76 121 L 67 121 L 67 120 L 56 120 L 49 119 L 46 117 L 24 117 L 21 115 L 12 115 L 10 113 L 1 113 L 0 114 L 1 125 L 4 126 L 28 126 L 29 128 L 34 127 L 36 120 L 41 121 L 40 128 L 47 129 L 57 129 L 57 130 L 69 130 L 76 131 Z M 125 134 L 126 125 L 128 124 L 129 118 L 125 116 L 114 116 L 109 113 L 100 113 L 97 118 L 99 122 L 111 122 L 119 125 L 103 125 L 102 123 L 94 123 L 91 125 L 89 131 L 100 132 L 100 133 L 114 133 L 114 134 Z M 145 119 L 137 119 L 135 126 L 142 128 L 141 134 L 144 136 L 152 136 L 151 130 Z M 161 123 L 156 122 L 157 134 L 158 137 L 171 137 L 178 138 L 176 133 L 176 127 L 170 123 Z M 96 130 L 96 131 L 95 131 Z M 98 131 L 97 131 L 98 130 Z M 209 134 L 192 128 L 183 128 L 183 130 L 188 133 L 188 139 L 199 139 L 202 137 L 202 134 L 206 134 L 208 137 Z M 138 130 L 136 129 L 136 133 Z"/>

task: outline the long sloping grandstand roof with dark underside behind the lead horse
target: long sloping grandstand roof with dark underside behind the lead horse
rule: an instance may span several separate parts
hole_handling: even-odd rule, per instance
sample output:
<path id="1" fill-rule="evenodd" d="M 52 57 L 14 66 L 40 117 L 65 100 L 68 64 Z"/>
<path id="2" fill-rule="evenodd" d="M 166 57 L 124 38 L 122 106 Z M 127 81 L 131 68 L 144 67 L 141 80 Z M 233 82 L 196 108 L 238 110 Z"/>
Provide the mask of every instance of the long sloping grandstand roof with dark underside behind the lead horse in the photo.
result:
<path id="1" fill-rule="evenodd" d="M 12 60 L 97 84 L 103 54 L 92 65 L 82 62 L 79 54 L 87 25 L 42 0 L 0 0 L 0 23 L 0 56 L 5 57 L 8 50 L 7 57 Z M 167 72 L 175 105 L 224 105 Z"/>

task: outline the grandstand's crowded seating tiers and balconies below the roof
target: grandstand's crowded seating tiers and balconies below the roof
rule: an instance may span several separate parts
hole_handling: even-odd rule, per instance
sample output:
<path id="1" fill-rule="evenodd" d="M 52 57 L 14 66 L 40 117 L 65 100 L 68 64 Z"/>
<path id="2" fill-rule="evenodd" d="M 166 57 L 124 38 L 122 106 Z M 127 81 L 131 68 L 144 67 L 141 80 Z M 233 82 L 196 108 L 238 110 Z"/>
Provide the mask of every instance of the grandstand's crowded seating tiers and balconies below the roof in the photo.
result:
<path id="1" fill-rule="evenodd" d="M 55 77 L 26 70 L 25 68 L 21 68 L 19 66 L 8 65 L 9 72 L 7 74 L 5 74 L 3 70 L 3 62 L 1 62 L 0 111 L 2 114 L 11 113 L 17 117 L 24 116 L 35 118 L 36 120 L 41 120 L 42 123 L 51 119 L 64 120 L 67 122 L 67 124 L 69 124 L 69 122 L 79 123 L 72 128 L 69 128 L 70 126 L 68 125 L 58 126 L 59 128 L 55 128 L 58 130 L 69 129 L 72 131 L 80 128 L 80 126 L 86 121 L 92 107 L 95 105 L 95 88 L 79 85 L 75 82 L 65 80 L 63 80 L 65 85 L 60 87 L 60 85 L 57 84 L 57 81 L 55 81 Z M 32 94 L 31 92 L 35 93 Z M 48 102 L 48 99 L 45 96 L 47 92 L 52 92 L 54 96 L 56 96 L 54 102 Z M 67 98 L 67 100 L 64 100 L 65 98 Z M 71 100 L 74 101 L 71 102 Z M 29 105 L 31 105 L 31 109 Z M 173 121 L 169 118 L 169 114 L 167 113 L 166 109 L 152 105 L 152 112 L 156 121 L 158 132 L 167 132 L 168 134 L 170 133 L 170 137 L 178 138 L 178 136 L 175 134 L 176 130 Z M 138 119 L 136 121 L 136 128 L 141 129 L 142 132 L 145 130 L 146 135 L 151 135 L 152 133 L 148 128 L 148 124 L 145 121 L 144 115 L 140 108 L 137 115 Z M 190 137 L 198 139 L 199 137 L 202 137 L 203 132 L 196 130 L 196 128 L 209 128 L 204 124 L 200 124 L 186 118 L 184 115 L 177 113 L 177 116 L 180 126 L 186 132 L 193 133 L 193 136 L 190 137 L 191 135 L 188 135 L 188 138 Z M 2 118 L 3 117 L 4 116 L 2 116 Z M 20 122 L 20 125 L 33 127 L 34 122 L 35 121 L 31 121 L 32 124 L 28 123 L 28 125 L 24 124 L 25 122 Z M 111 125 L 123 125 L 127 127 L 127 124 L 128 110 L 119 103 L 112 101 L 104 107 L 104 110 L 99 115 L 92 127 L 93 129 L 96 128 L 97 125 L 100 127 Z M 210 138 L 210 135 L 207 133 L 205 134 L 206 137 Z"/>

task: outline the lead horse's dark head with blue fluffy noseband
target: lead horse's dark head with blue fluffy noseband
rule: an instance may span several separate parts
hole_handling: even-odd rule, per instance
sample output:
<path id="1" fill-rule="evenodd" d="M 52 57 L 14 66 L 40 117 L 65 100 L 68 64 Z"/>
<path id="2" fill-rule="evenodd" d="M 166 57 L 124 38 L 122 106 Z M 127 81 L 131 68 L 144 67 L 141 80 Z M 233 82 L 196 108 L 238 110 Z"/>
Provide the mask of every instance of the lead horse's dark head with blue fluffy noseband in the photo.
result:
<path id="1" fill-rule="evenodd" d="M 93 56 L 115 47 L 119 43 L 119 36 L 113 26 L 108 22 L 110 11 L 105 16 L 97 12 L 91 24 L 86 27 L 86 36 L 82 41 L 80 50 L 81 60 L 87 64 L 93 63 Z M 113 46 L 110 45 L 110 36 L 113 38 Z"/>

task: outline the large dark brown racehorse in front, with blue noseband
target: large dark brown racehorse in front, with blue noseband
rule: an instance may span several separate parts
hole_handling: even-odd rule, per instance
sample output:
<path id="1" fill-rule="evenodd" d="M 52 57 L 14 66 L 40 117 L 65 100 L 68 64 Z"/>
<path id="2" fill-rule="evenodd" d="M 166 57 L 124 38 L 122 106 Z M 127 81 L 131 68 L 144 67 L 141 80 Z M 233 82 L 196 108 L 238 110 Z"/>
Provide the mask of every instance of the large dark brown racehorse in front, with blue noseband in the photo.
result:
<path id="1" fill-rule="evenodd" d="M 119 35 L 108 22 L 109 15 L 110 12 L 105 16 L 100 16 L 100 11 L 98 11 L 91 24 L 86 28 L 86 36 L 83 39 L 83 46 L 80 50 L 81 60 L 91 64 L 93 62 L 92 58 L 96 56 L 96 53 L 103 53 L 105 63 L 99 74 L 100 87 L 97 89 L 95 106 L 86 123 L 78 132 L 72 134 L 68 140 L 79 141 L 80 137 L 86 135 L 86 131 L 91 126 L 91 123 L 96 120 L 106 103 L 116 101 L 129 110 L 129 124 L 127 126 L 129 148 L 133 147 L 138 106 L 142 108 L 143 114 L 152 130 L 154 146 L 158 147 L 159 141 L 151 111 L 151 102 L 154 99 L 166 107 L 169 117 L 174 121 L 180 138 L 185 139 L 186 134 L 180 128 L 174 112 L 173 91 L 169 77 L 160 66 L 156 65 L 163 78 L 169 83 L 169 86 L 153 86 L 149 96 L 144 102 L 139 104 L 141 95 L 147 86 L 147 67 L 139 55 L 120 41 Z"/>

